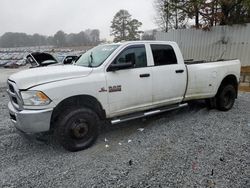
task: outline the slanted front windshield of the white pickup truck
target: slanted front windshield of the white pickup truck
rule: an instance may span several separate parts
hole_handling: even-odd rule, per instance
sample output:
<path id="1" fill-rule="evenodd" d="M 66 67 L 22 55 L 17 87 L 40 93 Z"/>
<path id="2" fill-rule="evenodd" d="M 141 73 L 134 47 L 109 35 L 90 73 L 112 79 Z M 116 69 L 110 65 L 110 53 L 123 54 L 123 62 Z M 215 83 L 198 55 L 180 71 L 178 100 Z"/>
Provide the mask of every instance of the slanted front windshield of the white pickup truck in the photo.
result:
<path id="1" fill-rule="evenodd" d="M 119 47 L 118 44 L 96 46 L 87 51 L 86 53 L 82 54 L 80 59 L 78 59 L 75 64 L 84 67 L 98 67 L 118 47 Z"/>

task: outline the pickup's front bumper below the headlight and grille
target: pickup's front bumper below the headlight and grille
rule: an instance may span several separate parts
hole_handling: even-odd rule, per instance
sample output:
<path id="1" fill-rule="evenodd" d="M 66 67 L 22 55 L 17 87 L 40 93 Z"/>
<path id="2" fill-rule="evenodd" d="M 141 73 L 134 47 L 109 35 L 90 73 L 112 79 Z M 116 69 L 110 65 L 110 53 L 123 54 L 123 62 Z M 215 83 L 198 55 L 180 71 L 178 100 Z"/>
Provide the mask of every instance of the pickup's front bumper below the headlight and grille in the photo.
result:
<path id="1" fill-rule="evenodd" d="M 25 133 L 39 133 L 50 130 L 53 109 L 17 111 L 11 102 L 8 104 L 10 119 L 15 127 Z"/>

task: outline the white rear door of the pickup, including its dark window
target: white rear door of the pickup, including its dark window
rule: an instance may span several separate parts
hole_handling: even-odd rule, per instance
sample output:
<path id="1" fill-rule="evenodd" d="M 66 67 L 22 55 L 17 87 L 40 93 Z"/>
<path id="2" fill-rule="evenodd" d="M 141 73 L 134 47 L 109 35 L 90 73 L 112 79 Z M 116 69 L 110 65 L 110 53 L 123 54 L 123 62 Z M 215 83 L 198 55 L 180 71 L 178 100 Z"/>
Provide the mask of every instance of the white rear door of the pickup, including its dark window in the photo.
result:
<path id="1" fill-rule="evenodd" d="M 179 103 L 186 90 L 187 73 L 184 64 L 178 64 L 171 45 L 151 44 L 154 60 L 152 68 L 153 105 Z"/>

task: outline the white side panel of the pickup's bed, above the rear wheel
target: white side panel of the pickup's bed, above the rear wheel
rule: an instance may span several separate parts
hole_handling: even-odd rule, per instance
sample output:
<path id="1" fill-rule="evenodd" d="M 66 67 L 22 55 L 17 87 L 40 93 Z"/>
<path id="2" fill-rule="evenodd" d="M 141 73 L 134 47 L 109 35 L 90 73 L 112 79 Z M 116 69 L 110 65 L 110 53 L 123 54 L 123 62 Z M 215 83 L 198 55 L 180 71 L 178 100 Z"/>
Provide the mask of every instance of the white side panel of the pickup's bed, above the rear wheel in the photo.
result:
<path id="1" fill-rule="evenodd" d="M 240 75 L 240 61 L 227 60 L 215 62 L 185 62 L 188 81 L 184 101 L 214 97 L 223 78 Z M 239 80 L 238 80 L 239 81 Z"/>

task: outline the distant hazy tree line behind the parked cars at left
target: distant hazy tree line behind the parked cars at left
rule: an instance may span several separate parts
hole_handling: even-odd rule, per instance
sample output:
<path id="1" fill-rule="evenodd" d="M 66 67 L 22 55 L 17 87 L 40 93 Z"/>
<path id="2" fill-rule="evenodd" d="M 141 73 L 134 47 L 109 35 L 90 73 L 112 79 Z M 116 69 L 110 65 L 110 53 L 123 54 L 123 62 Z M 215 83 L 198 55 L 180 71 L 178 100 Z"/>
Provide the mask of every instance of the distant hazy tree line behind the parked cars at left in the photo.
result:
<path id="1" fill-rule="evenodd" d="M 57 47 L 92 46 L 99 43 L 100 31 L 98 29 L 87 29 L 79 33 L 70 34 L 58 31 L 53 36 L 7 32 L 0 37 L 0 47 L 2 48 L 46 45 L 53 45 Z"/>

